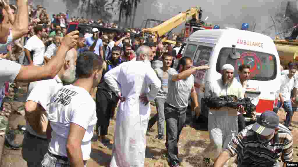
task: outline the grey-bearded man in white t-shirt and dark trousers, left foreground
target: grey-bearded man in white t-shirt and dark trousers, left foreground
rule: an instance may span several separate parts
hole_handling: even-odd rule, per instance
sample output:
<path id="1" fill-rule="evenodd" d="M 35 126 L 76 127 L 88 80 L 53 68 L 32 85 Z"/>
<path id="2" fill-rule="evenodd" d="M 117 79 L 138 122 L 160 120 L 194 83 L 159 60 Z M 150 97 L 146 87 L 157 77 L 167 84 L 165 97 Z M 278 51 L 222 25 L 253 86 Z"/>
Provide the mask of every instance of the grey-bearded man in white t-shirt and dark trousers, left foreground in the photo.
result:
<path id="1" fill-rule="evenodd" d="M 52 94 L 63 86 L 63 82 L 75 80 L 77 51 L 72 48 L 66 53 L 64 65 L 53 79 L 31 82 L 25 103 L 27 132 L 24 136 L 22 156 L 28 167 L 40 167 L 48 150 L 46 128 L 49 101 Z"/>

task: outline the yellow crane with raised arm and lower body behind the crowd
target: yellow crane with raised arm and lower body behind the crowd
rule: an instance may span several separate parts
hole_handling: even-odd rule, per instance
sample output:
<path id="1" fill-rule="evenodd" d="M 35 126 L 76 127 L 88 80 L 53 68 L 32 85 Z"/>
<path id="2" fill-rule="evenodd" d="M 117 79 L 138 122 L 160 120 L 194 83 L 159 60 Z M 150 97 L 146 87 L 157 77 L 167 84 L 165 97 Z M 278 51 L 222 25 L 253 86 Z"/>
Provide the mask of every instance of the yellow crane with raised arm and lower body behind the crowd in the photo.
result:
<path id="1" fill-rule="evenodd" d="M 164 35 L 183 22 L 192 19 L 194 16 L 196 20 L 198 20 L 198 23 L 200 23 L 200 19 L 198 17 L 199 13 L 199 7 L 193 7 L 186 12 L 181 12 L 180 14 L 174 16 L 173 18 L 170 18 L 169 20 L 159 24 L 158 26 L 142 29 L 142 35 L 145 39 L 148 39 L 149 36 L 153 37 L 154 42 L 157 42 L 160 39 L 161 42 L 176 44 L 176 41 L 168 40 L 168 36 L 165 37 Z"/>

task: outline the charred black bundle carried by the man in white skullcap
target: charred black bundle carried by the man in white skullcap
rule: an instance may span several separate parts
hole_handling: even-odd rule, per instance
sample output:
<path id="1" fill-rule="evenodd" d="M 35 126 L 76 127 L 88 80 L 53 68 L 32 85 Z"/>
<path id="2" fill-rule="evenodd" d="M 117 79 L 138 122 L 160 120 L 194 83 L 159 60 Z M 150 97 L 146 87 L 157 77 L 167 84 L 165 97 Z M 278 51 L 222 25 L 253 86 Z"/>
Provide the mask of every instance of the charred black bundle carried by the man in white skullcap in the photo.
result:
<path id="1" fill-rule="evenodd" d="M 235 95 L 226 95 L 220 97 L 211 96 L 203 98 L 205 104 L 210 109 L 220 109 L 222 107 L 231 107 L 238 109 L 240 105 L 244 107 L 246 116 L 252 117 L 252 112 L 255 111 L 256 106 L 252 104 L 249 98 L 238 99 Z"/>

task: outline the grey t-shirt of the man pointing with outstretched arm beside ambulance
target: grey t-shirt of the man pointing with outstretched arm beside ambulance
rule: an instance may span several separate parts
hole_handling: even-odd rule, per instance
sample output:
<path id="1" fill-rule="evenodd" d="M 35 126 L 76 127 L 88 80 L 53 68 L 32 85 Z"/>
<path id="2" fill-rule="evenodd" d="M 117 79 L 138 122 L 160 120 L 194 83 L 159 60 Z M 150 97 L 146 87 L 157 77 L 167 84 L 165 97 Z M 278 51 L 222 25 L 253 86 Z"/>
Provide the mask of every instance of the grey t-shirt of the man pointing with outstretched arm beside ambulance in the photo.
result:
<path id="1" fill-rule="evenodd" d="M 176 108 L 185 108 L 188 106 L 191 88 L 194 85 L 194 76 L 190 75 L 179 81 L 172 81 L 172 77 L 173 75 L 169 74 L 166 103 Z"/>

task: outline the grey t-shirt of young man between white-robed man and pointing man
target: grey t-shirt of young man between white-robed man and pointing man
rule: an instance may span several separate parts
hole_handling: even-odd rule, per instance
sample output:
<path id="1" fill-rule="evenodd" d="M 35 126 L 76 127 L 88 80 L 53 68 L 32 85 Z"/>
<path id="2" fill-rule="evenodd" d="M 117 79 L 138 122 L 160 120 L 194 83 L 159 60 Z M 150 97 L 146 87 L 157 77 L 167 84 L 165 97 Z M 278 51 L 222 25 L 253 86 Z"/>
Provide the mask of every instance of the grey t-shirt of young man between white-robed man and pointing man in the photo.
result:
<path id="1" fill-rule="evenodd" d="M 159 80 L 162 82 L 162 85 L 158 91 L 156 98 L 167 99 L 169 74 L 171 75 L 177 74 L 177 71 L 173 68 L 170 68 L 169 70 L 167 70 L 167 72 L 164 72 L 162 70 L 162 67 L 156 68 L 154 71 L 156 72 Z"/>

